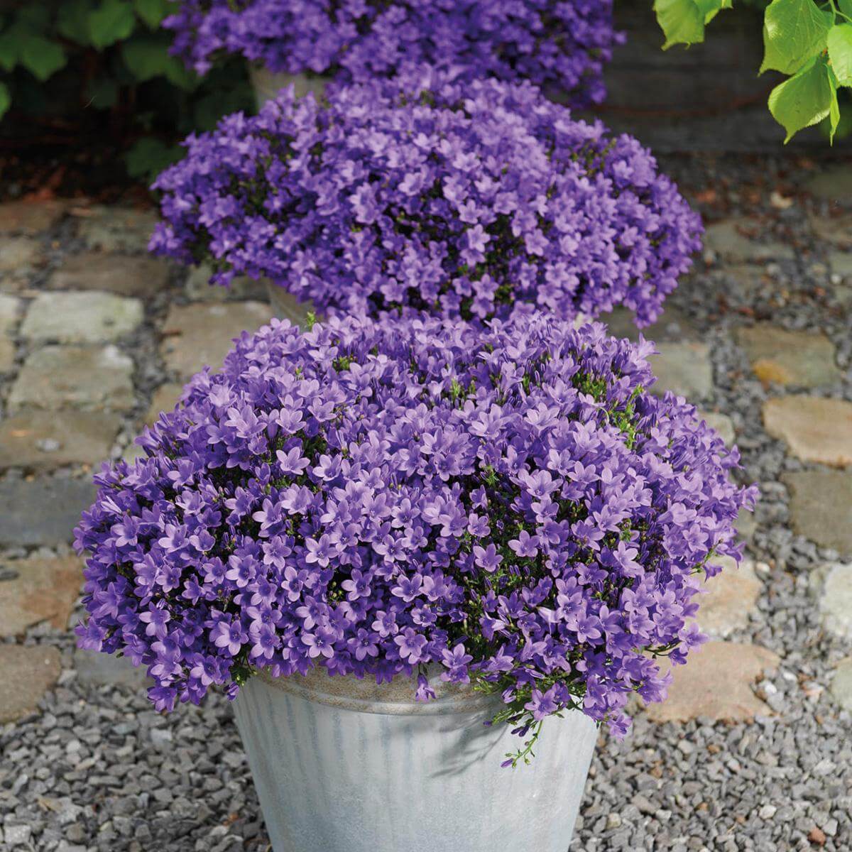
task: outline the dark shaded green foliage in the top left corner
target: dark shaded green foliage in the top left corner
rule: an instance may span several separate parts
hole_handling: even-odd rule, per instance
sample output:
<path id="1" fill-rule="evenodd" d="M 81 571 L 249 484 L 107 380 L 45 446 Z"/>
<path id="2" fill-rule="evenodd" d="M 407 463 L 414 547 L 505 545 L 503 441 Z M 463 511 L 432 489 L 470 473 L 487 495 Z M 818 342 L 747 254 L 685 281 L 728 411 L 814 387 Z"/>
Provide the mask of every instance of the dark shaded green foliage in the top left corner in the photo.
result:
<path id="1" fill-rule="evenodd" d="M 169 54 L 160 25 L 175 0 L 16 5 L 0 13 L 0 119 L 9 135 L 77 123 L 115 142 L 130 176 L 147 181 L 180 156 L 176 140 L 253 105 L 239 60 L 202 80 Z"/>

